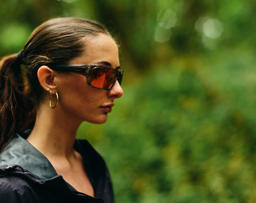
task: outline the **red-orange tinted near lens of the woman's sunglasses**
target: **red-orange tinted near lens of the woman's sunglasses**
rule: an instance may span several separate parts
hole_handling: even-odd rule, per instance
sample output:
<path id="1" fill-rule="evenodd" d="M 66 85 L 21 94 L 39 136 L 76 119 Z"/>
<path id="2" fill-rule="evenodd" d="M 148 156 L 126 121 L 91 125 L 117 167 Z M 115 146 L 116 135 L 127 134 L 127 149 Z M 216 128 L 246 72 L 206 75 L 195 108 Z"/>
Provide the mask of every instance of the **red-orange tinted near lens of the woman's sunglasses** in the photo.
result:
<path id="1" fill-rule="evenodd" d="M 109 89 L 116 81 L 116 72 L 107 67 L 97 67 L 92 69 L 91 85 L 94 87 Z"/>

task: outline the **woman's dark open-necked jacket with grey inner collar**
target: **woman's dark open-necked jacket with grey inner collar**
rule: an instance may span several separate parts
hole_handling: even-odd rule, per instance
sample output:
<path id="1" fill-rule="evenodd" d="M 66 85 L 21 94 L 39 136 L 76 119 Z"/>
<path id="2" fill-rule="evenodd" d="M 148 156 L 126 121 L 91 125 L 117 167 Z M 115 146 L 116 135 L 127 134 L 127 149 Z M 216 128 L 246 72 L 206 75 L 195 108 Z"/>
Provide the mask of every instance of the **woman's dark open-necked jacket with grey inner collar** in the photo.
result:
<path id="1" fill-rule="evenodd" d="M 76 191 L 49 160 L 18 134 L 0 155 L 0 203 L 113 203 L 110 173 L 86 140 L 76 139 L 95 198 Z"/>

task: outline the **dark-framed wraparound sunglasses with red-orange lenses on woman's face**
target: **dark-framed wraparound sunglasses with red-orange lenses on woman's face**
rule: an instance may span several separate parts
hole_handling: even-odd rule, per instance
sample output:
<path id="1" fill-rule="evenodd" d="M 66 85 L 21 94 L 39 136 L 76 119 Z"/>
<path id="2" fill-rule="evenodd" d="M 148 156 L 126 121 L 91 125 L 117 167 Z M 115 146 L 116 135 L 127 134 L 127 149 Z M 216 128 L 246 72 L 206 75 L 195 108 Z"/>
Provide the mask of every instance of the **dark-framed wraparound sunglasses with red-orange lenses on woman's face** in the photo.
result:
<path id="1" fill-rule="evenodd" d="M 57 65 L 49 64 L 49 68 L 56 71 L 75 72 L 86 77 L 89 86 L 103 90 L 110 90 L 116 81 L 121 85 L 123 71 L 118 71 L 104 65 Z"/>

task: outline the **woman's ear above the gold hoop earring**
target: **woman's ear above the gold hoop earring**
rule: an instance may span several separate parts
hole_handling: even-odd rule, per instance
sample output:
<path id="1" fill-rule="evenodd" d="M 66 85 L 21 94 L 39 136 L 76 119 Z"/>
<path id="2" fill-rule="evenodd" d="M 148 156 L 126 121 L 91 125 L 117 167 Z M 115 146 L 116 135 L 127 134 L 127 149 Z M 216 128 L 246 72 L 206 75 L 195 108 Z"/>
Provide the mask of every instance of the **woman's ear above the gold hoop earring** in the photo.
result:
<path id="1" fill-rule="evenodd" d="M 55 76 L 55 72 L 48 66 L 41 66 L 37 71 L 39 83 L 45 90 L 55 89 L 57 87 Z"/>

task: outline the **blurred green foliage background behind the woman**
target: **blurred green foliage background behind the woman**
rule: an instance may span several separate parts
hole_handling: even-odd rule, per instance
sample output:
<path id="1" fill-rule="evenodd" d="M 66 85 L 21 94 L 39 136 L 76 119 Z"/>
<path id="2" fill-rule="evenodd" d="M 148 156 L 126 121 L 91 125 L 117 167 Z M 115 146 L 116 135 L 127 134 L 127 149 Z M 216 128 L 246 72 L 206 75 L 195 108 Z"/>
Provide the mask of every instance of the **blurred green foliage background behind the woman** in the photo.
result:
<path id="1" fill-rule="evenodd" d="M 123 96 L 83 123 L 116 203 L 256 202 L 254 0 L 0 0 L 0 56 L 73 16 L 121 43 Z"/>

